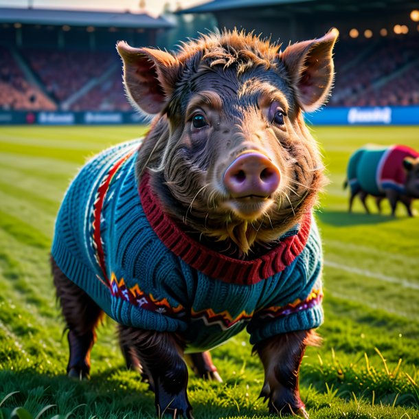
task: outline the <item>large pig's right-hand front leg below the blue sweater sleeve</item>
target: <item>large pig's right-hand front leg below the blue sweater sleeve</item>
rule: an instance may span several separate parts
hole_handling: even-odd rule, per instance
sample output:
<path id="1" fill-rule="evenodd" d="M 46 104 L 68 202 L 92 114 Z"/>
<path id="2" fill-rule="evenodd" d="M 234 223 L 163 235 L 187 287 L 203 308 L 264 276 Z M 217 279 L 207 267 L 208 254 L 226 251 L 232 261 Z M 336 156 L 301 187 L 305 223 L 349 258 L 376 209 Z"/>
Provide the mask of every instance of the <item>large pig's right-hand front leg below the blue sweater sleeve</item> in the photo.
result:
<path id="1" fill-rule="evenodd" d="M 284 333 L 253 348 L 264 366 L 265 380 L 260 396 L 269 399 L 271 414 L 308 418 L 304 403 L 299 398 L 299 365 L 306 345 L 316 344 L 316 336 L 310 330 Z"/>

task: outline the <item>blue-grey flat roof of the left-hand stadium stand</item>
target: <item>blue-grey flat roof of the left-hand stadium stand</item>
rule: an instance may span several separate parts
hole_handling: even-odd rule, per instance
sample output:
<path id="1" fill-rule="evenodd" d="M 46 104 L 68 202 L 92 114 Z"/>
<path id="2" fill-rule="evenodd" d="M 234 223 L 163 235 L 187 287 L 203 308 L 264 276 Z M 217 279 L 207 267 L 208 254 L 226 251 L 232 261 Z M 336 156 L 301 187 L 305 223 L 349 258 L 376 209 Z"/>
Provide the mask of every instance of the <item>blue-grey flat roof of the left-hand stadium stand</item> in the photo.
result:
<path id="1" fill-rule="evenodd" d="M 174 25 L 146 13 L 94 12 L 38 8 L 0 8 L 0 23 L 103 27 L 170 28 Z"/>

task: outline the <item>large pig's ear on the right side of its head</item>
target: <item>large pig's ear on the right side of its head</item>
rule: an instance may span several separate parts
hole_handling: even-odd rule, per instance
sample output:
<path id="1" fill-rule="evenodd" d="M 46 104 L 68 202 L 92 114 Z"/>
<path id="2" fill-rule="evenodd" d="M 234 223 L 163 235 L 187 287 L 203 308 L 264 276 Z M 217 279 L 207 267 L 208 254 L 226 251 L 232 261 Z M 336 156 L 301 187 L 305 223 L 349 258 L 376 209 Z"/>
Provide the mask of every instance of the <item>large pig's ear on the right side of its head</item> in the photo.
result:
<path id="1" fill-rule="evenodd" d="M 288 46 L 280 55 L 304 111 L 315 111 L 324 104 L 332 88 L 333 45 L 339 31 L 332 28 L 325 36 Z"/>

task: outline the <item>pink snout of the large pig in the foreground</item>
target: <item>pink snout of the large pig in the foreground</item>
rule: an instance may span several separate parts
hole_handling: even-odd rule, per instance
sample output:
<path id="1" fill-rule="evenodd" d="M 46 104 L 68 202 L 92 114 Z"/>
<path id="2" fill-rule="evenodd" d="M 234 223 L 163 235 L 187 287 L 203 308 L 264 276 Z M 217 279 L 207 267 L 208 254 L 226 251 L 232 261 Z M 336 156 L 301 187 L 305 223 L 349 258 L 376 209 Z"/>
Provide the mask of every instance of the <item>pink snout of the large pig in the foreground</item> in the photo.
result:
<path id="1" fill-rule="evenodd" d="M 280 185 L 280 170 L 259 152 L 237 157 L 225 170 L 225 186 L 233 198 L 271 195 Z"/>

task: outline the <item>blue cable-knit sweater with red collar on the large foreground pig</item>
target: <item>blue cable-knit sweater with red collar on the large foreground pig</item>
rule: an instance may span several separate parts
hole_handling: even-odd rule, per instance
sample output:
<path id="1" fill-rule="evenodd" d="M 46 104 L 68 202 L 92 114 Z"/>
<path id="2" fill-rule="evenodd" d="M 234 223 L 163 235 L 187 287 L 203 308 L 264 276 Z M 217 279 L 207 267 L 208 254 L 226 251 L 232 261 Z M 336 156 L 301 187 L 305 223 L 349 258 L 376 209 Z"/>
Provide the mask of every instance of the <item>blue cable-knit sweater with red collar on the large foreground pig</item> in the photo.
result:
<path id="1" fill-rule="evenodd" d="M 236 260 L 196 242 L 137 184 L 141 140 L 94 157 L 56 220 L 58 267 L 115 321 L 178 332 L 186 352 L 218 346 L 247 326 L 251 343 L 319 326 L 321 245 L 310 214 L 260 258 Z"/>

